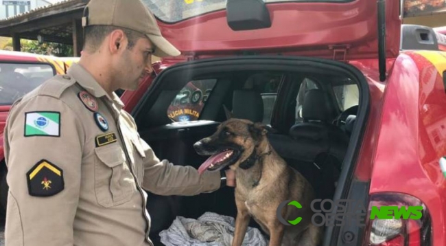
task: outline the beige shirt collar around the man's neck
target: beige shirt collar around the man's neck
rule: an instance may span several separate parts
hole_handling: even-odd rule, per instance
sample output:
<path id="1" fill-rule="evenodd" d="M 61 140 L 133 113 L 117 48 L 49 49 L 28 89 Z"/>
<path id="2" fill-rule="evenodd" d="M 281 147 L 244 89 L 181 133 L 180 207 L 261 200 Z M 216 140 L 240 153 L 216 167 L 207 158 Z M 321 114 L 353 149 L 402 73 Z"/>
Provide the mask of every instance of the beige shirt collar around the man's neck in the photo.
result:
<path id="1" fill-rule="evenodd" d="M 68 69 L 67 74 L 72 76 L 80 86 L 82 86 L 86 91 L 91 93 L 91 95 L 95 96 L 95 98 L 101 98 L 106 96 L 108 100 L 113 101 L 117 104 L 119 109 L 124 107 L 124 103 L 119 99 L 115 92 L 112 93 L 112 98 L 108 96 L 108 93 L 104 90 L 104 88 L 99 85 L 99 83 L 91 76 L 89 71 L 86 71 L 82 65 L 78 63 L 73 63 L 71 67 Z"/>

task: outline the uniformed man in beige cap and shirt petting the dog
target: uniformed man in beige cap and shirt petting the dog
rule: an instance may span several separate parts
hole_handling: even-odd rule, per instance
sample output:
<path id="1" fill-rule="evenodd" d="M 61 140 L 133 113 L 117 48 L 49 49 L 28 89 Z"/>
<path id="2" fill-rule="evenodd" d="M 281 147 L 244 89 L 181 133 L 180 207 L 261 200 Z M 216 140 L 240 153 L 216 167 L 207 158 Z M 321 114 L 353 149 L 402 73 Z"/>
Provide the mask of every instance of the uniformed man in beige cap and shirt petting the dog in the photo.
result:
<path id="1" fill-rule="evenodd" d="M 219 172 L 159 160 L 113 91 L 137 89 L 152 54 L 177 56 L 140 0 L 91 0 L 82 58 L 14 103 L 5 127 L 6 246 L 152 245 L 145 190 L 194 195 Z M 227 171 L 229 186 L 233 172 Z"/>

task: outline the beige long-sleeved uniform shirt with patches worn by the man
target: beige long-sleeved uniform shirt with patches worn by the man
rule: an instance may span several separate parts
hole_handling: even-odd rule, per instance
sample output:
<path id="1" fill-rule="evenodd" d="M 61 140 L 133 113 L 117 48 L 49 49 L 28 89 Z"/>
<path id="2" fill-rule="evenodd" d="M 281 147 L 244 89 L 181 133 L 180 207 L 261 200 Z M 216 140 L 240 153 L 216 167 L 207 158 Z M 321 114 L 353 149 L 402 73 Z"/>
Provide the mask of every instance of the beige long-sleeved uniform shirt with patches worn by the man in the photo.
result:
<path id="1" fill-rule="evenodd" d="M 152 245 L 143 189 L 220 188 L 218 172 L 200 177 L 159 160 L 113 96 L 73 65 L 14 103 L 4 136 L 6 246 Z"/>

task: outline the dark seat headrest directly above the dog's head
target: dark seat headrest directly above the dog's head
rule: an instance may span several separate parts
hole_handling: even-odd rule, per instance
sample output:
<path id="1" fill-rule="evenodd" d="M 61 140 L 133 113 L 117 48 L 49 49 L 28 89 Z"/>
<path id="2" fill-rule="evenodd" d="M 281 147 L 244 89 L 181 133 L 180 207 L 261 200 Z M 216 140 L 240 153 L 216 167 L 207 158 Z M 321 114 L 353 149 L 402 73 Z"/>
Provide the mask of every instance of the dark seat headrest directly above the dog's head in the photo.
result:
<path id="1" fill-rule="evenodd" d="M 233 93 L 233 118 L 263 121 L 263 100 L 257 91 L 235 90 Z"/>

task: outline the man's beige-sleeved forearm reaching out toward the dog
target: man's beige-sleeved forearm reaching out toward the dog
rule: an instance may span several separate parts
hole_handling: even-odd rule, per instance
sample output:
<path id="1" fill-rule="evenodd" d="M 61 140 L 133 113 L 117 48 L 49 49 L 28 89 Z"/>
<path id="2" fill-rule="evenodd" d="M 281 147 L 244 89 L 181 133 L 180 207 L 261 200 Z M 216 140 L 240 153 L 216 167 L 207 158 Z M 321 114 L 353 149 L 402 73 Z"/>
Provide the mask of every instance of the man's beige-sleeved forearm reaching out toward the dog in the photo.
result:
<path id="1" fill-rule="evenodd" d="M 145 152 L 143 188 L 154 194 L 191 196 L 220 188 L 220 172 L 204 172 L 201 176 L 192 166 L 174 166 L 160 161 L 152 148 L 141 139 Z"/>

